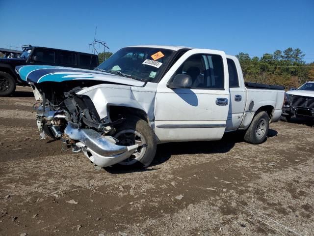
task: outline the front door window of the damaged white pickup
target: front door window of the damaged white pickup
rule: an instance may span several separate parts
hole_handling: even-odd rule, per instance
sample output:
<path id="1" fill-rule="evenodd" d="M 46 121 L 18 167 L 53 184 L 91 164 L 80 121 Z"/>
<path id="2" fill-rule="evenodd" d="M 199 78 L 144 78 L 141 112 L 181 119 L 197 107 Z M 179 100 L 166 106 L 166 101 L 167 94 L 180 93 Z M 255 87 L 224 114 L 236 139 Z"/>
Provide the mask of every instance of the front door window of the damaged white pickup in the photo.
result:
<path id="1" fill-rule="evenodd" d="M 192 77 L 192 89 L 224 89 L 224 66 L 219 55 L 193 55 L 179 67 L 178 74 Z"/>

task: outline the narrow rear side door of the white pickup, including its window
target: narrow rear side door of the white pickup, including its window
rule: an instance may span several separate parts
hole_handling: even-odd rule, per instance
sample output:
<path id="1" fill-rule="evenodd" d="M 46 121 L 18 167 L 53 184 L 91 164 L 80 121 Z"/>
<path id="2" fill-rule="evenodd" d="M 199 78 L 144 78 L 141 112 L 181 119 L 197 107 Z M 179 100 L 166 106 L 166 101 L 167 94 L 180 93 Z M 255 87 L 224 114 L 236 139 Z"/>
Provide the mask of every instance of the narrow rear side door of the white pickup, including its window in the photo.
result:
<path id="1" fill-rule="evenodd" d="M 246 104 L 246 90 L 241 68 L 235 63 L 235 57 L 227 56 L 230 106 L 227 119 L 226 132 L 236 130 L 243 120 Z"/>

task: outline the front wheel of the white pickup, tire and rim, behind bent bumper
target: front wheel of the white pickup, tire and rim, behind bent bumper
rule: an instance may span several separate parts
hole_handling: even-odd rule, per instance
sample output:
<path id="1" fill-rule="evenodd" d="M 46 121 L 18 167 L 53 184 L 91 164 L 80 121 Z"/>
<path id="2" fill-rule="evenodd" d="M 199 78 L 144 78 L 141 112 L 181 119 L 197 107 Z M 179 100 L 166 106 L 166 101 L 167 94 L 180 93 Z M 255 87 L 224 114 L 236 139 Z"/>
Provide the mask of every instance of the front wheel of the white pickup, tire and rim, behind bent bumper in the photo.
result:
<path id="1" fill-rule="evenodd" d="M 118 145 L 131 146 L 135 143 L 141 145 L 130 158 L 114 165 L 114 167 L 125 169 L 148 167 L 155 157 L 157 148 L 155 134 L 148 123 L 141 118 L 129 116 L 122 124 L 116 125 L 115 129 L 116 132 L 113 137 L 119 140 Z"/>

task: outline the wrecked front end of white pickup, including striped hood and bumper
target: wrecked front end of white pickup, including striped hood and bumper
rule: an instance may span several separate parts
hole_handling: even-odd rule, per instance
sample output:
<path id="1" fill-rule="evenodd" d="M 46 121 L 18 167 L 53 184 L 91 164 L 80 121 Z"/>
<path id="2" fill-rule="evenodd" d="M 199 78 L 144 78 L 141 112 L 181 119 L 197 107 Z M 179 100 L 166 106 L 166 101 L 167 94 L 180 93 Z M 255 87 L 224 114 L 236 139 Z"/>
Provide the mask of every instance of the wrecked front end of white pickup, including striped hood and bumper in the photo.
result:
<path id="1" fill-rule="evenodd" d="M 66 149 L 82 151 L 100 167 L 124 161 L 139 148 L 137 144 L 124 146 L 112 137 L 114 126 L 122 123 L 123 117 L 116 116 L 113 121 L 108 116 L 101 119 L 91 98 L 77 92 L 115 81 L 135 85 L 142 82 L 66 67 L 18 66 L 16 70 L 34 91 L 41 139 L 48 135 L 61 140 Z"/>

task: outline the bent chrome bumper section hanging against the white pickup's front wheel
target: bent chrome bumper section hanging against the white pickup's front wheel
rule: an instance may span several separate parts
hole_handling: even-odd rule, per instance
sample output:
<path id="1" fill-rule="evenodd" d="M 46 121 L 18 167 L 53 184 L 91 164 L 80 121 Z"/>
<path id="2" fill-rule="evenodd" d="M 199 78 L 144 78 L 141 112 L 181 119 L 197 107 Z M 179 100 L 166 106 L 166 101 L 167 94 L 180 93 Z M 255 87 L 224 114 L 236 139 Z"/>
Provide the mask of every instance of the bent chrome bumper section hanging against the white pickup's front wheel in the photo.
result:
<path id="1" fill-rule="evenodd" d="M 103 136 L 93 129 L 80 129 L 75 123 L 68 122 L 64 134 L 71 140 L 79 141 L 74 145 L 82 150 L 88 159 L 100 167 L 117 164 L 131 156 L 138 145 L 119 146 L 118 140 Z"/>

